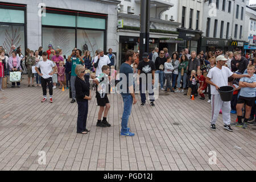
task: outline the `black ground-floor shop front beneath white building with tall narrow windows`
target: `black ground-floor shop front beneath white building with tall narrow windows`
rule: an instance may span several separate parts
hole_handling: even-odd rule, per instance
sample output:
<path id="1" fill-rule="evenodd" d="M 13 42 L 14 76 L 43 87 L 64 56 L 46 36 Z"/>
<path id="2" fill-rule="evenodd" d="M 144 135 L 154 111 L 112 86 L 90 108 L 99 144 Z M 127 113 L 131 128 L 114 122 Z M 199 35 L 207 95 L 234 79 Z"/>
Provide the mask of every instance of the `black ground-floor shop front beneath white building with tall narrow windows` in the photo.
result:
<path id="1" fill-rule="evenodd" d="M 179 31 L 179 39 L 183 39 L 184 41 L 178 44 L 177 51 L 181 51 L 182 49 L 188 48 L 189 51 L 200 52 L 198 47 L 200 47 L 200 38 L 201 31 L 196 30 L 188 30 L 185 28 L 177 28 Z"/>

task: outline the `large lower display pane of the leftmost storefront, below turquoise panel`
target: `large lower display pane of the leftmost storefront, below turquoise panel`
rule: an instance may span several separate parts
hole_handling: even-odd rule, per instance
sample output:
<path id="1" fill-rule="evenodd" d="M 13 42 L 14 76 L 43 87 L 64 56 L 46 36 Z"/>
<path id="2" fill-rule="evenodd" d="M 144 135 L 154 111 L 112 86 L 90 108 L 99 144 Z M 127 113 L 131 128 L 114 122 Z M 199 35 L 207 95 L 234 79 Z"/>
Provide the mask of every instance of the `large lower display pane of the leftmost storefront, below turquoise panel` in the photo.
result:
<path id="1" fill-rule="evenodd" d="M 11 55 L 11 46 L 22 48 L 24 55 L 25 38 L 23 26 L 0 25 L 0 45 L 3 46 L 6 53 Z"/>

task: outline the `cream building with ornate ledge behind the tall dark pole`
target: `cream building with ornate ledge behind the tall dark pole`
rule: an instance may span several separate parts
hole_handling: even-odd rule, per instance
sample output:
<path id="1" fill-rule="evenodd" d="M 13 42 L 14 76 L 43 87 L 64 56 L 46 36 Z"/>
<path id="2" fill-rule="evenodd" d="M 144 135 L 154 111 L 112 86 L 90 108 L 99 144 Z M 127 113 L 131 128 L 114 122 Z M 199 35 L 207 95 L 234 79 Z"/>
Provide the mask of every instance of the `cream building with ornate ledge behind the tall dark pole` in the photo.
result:
<path id="1" fill-rule="evenodd" d="M 168 48 L 169 52 L 176 51 L 180 23 L 177 19 L 177 0 L 150 1 L 150 50 L 155 47 Z M 124 61 L 128 49 L 139 50 L 141 1 L 122 0 L 118 10 L 118 65 Z"/>

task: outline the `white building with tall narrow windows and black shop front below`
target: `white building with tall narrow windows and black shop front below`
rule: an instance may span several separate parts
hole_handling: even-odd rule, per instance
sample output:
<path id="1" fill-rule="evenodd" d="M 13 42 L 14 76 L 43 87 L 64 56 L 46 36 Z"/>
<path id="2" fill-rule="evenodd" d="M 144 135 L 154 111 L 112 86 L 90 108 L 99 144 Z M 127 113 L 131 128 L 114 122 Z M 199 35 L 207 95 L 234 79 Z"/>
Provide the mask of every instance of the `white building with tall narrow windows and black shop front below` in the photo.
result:
<path id="1" fill-rule="evenodd" d="M 181 23 L 178 28 L 179 38 L 183 43 L 178 44 L 178 51 L 188 48 L 189 51 L 199 52 L 200 38 L 203 28 L 203 0 L 179 0 L 178 1 L 177 19 Z"/>

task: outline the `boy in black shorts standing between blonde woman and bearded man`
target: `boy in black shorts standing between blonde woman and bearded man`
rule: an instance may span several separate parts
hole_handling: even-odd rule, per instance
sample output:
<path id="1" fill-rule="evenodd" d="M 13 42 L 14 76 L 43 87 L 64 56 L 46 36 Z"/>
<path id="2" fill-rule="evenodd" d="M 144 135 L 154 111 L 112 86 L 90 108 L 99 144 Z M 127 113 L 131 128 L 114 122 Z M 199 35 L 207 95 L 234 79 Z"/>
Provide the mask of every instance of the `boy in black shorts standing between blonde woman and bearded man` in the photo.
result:
<path id="1" fill-rule="evenodd" d="M 95 78 L 93 81 L 97 84 L 96 89 L 96 99 L 97 99 L 97 105 L 100 106 L 100 110 L 98 111 L 98 121 L 97 125 L 99 127 L 110 127 L 111 125 L 106 121 L 106 117 L 108 115 L 110 104 L 109 104 L 109 98 L 107 96 L 107 93 L 109 93 L 109 73 L 110 68 L 108 65 L 104 65 L 101 68 L 102 73 L 100 76 Z M 103 119 L 101 121 L 102 113 L 104 111 Z"/>

